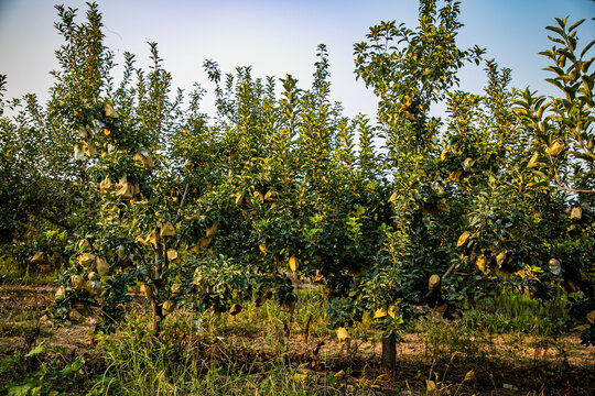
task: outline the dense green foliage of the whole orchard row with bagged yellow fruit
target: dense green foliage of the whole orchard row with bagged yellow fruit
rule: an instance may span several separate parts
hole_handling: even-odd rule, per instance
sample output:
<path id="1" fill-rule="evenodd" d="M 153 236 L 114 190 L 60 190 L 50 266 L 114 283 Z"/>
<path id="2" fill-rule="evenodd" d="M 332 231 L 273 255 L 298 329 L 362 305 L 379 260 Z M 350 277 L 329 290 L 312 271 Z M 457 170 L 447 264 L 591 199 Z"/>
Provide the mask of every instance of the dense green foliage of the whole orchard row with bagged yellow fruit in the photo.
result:
<path id="1" fill-rule="evenodd" d="M 131 290 L 151 301 L 156 331 L 177 307 L 237 315 L 246 299 L 274 299 L 292 312 L 294 273 L 325 285 L 339 338 L 366 312 L 390 330 L 425 306 L 450 317 L 510 287 L 569 293 L 569 324 L 592 342 L 595 76 L 583 21 L 548 28 L 549 80 L 563 95 L 545 98 L 511 89 L 479 47 L 456 46 L 458 2 L 420 3 L 415 29 L 382 22 L 354 46 L 376 124 L 331 102 L 324 45 L 309 89 L 205 62 L 209 119 L 203 88 L 172 92 L 156 44 L 148 70 L 127 53 L 116 77 L 97 6 L 82 23 L 57 7 L 51 100 L 0 102 L 3 252 L 62 260 L 64 322 L 110 328 Z M 483 94 L 457 89 L 469 62 L 485 65 Z"/>

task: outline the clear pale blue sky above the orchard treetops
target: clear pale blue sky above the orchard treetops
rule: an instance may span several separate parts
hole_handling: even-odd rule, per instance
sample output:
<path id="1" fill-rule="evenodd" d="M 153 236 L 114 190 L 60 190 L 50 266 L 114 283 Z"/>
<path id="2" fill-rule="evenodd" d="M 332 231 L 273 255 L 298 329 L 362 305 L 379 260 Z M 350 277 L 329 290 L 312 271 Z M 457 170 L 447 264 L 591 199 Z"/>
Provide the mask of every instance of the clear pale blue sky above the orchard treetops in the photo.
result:
<path id="1" fill-rule="evenodd" d="M 396 20 L 410 28 L 416 23 L 415 0 L 99 0 L 106 26 L 106 44 L 121 62 L 125 51 L 148 57 L 148 41 L 159 43 L 164 66 L 174 86 L 191 88 L 194 81 L 213 90 L 203 70 L 204 59 L 218 62 L 224 73 L 251 65 L 255 76 L 291 74 L 302 88 L 312 81 L 316 46 L 327 45 L 333 100 L 343 102 L 346 116 L 372 114 L 376 99 L 355 80 L 353 44 L 369 26 Z M 8 96 L 26 92 L 47 99 L 48 72 L 62 40 L 53 24 L 53 4 L 79 9 L 80 0 L 0 0 L 0 74 L 8 75 Z M 458 37 L 462 47 L 478 44 L 487 57 L 512 69 L 512 85 L 530 86 L 542 94 L 555 89 L 543 79 L 548 66 L 539 51 L 550 47 L 544 28 L 554 18 L 586 18 L 582 42 L 595 36 L 595 1 L 592 0 L 464 0 Z M 140 64 L 140 63 L 139 63 Z M 461 75 L 462 89 L 479 92 L 485 84 L 480 67 Z M 204 109 L 209 111 L 212 97 Z"/>

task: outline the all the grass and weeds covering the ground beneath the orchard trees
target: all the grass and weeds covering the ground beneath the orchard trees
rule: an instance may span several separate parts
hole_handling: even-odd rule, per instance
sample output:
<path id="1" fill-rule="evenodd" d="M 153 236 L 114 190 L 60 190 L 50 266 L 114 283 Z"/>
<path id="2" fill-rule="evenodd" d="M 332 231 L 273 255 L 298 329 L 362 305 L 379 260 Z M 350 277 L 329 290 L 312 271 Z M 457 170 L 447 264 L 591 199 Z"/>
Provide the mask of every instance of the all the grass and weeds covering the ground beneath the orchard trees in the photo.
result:
<path id="1" fill-rule="evenodd" d="M 32 298 L 29 292 L 11 290 L 11 296 Z M 532 382 L 513 383 L 515 373 L 508 375 L 506 370 L 494 367 L 505 360 L 531 366 L 533 358 L 528 359 L 515 345 L 534 349 L 536 361 L 550 362 L 556 351 L 556 356 L 565 360 L 569 348 L 553 338 L 566 315 L 564 297 L 540 305 L 527 296 L 506 293 L 477 301 L 457 320 L 430 315 L 416 321 L 408 329 L 409 338 L 403 343 L 403 348 L 409 343 L 416 350 L 398 358 L 400 370 L 391 377 L 379 366 L 378 354 L 371 358 L 369 346 L 367 352 L 357 349 L 364 340 L 377 341 L 381 332 L 365 320 L 349 329 L 357 339 L 356 348 L 339 345 L 326 327 L 326 305 L 320 289 L 304 288 L 298 292 L 292 315 L 280 311 L 274 301 L 260 307 L 245 301 L 237 316 L 178 310 L 166 317 L 162 336 L 155 338 L 148 330 L 150 318 L 141 304 L 129 312 L 127 323 L 117 333 L 99 337 L 93 348 L 78 346 L 76 353 L 47 348 L 35 358 L 24 356 L 51 331 L 46 326 L 35 326 L 34 316 L 22 314 L 15 306 L 0 319 L 0 338 L 29 341 L 28 346 L 0 351 L 0 365 L 8 367 L 0 370 L 0 394 L 23 385 L 24 380 L 77 395 L 360 396 L 389 391 L 404 395 L 424 394 L 431 385 L 428 381 L 435 386 L 433 394 L 482 394 L 476 392 L 475 383 L 464 381 L 470 370 L 480 378 L 478 384 L 496 394 L 504 384 L 532 392 L 541 381 L 536 378 L 536 372 L 529 375 Z M 322 352 L 314 353 L 322 342 Z M 82 362 L 78 351 L 84 353 L 84 362 L 74 387 L 72 376 L 62 372 Z M 488 376 L 493 373 L 494 377 Z"/>

